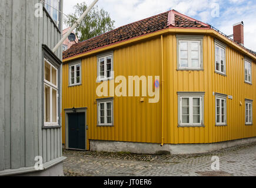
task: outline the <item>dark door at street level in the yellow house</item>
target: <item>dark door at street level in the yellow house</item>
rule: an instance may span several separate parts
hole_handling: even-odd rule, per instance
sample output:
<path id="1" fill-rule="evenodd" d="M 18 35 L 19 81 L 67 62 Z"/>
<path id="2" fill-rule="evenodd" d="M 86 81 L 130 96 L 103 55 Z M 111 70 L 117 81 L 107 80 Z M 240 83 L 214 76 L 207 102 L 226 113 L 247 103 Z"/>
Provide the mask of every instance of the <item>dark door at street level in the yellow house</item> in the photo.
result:
<path id="1" fill-rule="evenodd" d="M 85 149 L 85 113 L 68 115 L 68 147 Z"/>

